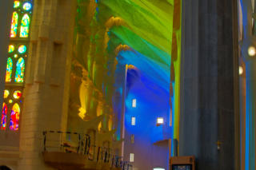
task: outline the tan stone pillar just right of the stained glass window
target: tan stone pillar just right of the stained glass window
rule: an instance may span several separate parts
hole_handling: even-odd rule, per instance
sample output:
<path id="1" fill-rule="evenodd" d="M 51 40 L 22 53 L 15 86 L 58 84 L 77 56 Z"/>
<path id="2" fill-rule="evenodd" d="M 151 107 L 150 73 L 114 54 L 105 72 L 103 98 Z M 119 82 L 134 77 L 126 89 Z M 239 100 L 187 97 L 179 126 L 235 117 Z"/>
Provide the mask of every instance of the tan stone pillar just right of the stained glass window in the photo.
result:
<path id="1" fill-rule="evenodd" d="M 34 1 L 18 170 L 53 169 L 43 160 L 42 132 L 66 131 L 76 6 L 76 1 Z"/>

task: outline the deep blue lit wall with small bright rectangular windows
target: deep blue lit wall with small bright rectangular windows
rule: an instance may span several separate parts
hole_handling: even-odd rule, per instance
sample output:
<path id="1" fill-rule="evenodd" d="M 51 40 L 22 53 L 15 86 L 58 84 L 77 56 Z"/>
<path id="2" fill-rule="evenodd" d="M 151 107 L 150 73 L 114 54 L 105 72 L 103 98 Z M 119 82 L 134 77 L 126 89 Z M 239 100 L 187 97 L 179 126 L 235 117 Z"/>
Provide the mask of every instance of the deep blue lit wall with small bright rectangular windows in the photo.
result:
<path id="1" fill-rule="evenodd" d="M 134 150 L 134 154 L 145 160 L 151 158 L 158 161 L 161 167 L 168 169 L 168 146 L 162 145 L 161 156 L 152 156 L 152 150 L 158 149 L 154 143 L 171 139 L 172 127 L 170 120 L 170 94 L 161 86 L 156 85 L 145 73 L 138 69 L 128 69 L 126 76 L 126 113 L 125 113 L 125 139 L 134 135 L 135 144 L 125 142 L 124 153 Z M 136 108 L 133 107 L 133 99 L 137 99 Z M 136 122 L 133 122 L 136 117 Z M 166 120 L 163 126 L 157 126 L 158 117 Z M 135 125 L 133 125 L 135 123 Z M 150 146 L 150 149 L 148 149 Z M 153 154 L 154 155 L 154 154 Z M 150 164 L 150 163 L 149 163 Z M 141 168 L 138 169 L 150 169 Z"/>

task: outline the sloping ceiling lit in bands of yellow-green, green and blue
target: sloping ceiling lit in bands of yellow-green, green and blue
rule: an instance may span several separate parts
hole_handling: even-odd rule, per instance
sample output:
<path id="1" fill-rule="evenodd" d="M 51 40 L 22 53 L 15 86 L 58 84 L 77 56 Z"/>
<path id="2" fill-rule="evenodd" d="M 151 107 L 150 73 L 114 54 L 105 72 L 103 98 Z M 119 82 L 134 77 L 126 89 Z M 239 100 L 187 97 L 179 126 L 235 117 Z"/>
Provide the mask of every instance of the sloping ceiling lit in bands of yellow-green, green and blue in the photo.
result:
<path id="1" fill-rule="evenodd" d="M 97 25 L 106 26 L 106 21 L 111 17 L 120 18 L 123 22 L 107 29 L 109 40 L 106 42 L 106 51 L 113 53 L 118 45 L 128 45 L 132 50 L 121 50 L 117 56 L 118 63 L 136 66 L 156 84 L 169 91 L 173 0 L 95 2 L 97 8 L 94 20 Z"/>

